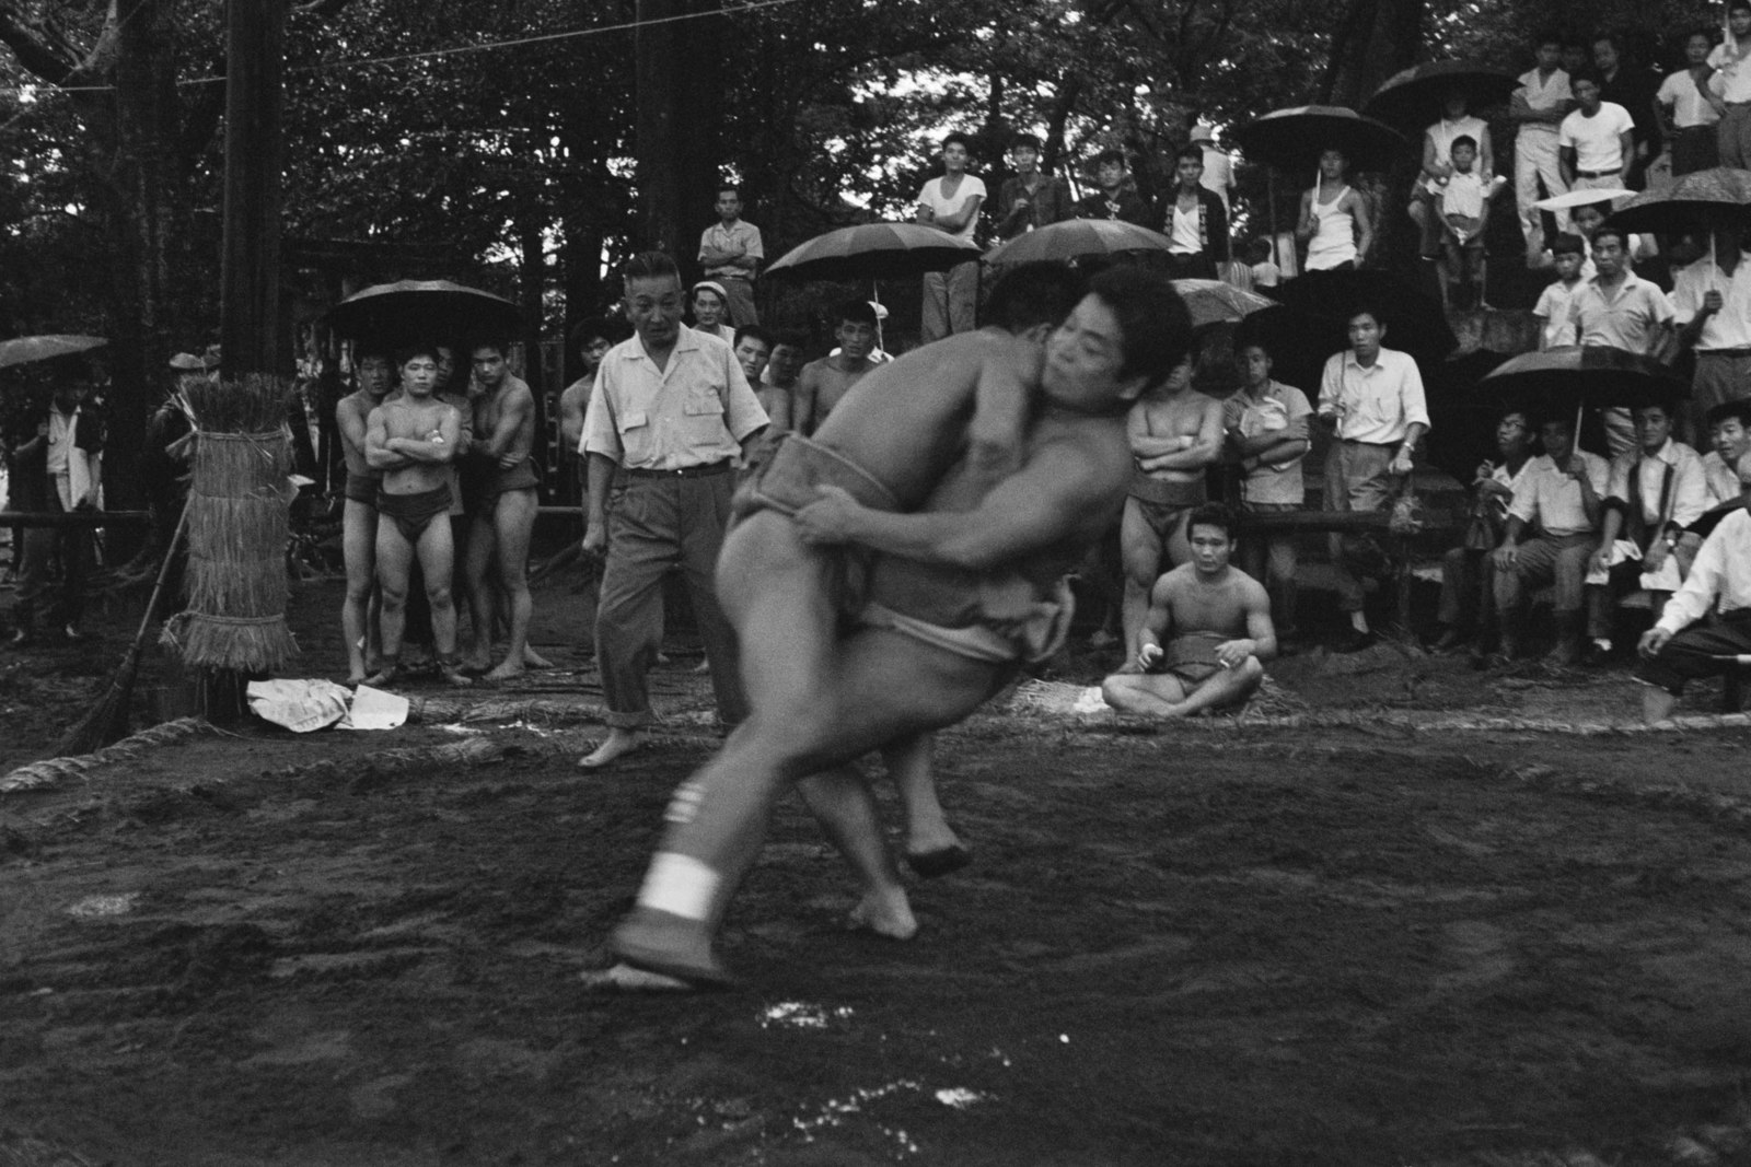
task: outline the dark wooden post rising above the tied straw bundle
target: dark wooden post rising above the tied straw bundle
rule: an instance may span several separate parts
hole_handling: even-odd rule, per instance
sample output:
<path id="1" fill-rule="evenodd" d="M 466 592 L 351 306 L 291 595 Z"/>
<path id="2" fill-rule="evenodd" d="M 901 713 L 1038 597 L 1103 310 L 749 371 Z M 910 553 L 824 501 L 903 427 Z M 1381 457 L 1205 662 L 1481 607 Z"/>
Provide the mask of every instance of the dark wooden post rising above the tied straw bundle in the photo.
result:
<path id="1" fill-rule="evenodd" d="M 285 0 L 228 0 L 221 373 L 284 374 L 280 171 Z"/>

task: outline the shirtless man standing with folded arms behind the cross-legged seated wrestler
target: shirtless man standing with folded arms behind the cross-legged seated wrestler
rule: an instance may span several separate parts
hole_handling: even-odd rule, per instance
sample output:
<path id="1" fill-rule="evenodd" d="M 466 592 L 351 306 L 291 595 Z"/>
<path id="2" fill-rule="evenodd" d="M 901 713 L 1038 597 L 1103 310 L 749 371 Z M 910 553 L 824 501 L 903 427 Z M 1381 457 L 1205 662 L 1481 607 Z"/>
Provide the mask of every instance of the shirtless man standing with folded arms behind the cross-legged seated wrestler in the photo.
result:
<path id="1" fill-rule="evenodd" d="M 1185 516 L 1208 500 L 1205 471 L 1222 457 L 1222 402 L 1192 388 L 1192 362 L 1185 357 L 1173 376 L 1131 406 L 1128 430 L 1136 472 L 1124 500 L 1119 546 L 1124 556 L 1124 647 L 1126 658 L 1136 660 L 1149 590 L 1161 574 L 1163 553 L 1173 565 L 1191 555 Z"/>

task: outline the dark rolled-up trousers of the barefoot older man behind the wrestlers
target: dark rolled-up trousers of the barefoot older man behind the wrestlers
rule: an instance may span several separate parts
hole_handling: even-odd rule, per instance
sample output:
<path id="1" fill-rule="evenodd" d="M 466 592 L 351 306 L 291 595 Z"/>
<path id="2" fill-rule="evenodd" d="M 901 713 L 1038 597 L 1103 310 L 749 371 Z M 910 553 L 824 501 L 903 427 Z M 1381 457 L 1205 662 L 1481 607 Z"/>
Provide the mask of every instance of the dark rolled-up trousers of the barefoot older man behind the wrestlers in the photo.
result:
<path id="1" fill-rule="evenodd" d="M 676 563 L 693 600 L 718 716 L 725 724 L 748 716 L 735 633 L 718 607 L 713 586 L 734 488 L 734 474 L 622 474 L 615 486 L 608 504 L 608 563 L 595 609 L 595 660 L 608 700 L 608 724 L 630 730 L 651 721 L 646 674 L 662 647 L 664 576 Z"/>

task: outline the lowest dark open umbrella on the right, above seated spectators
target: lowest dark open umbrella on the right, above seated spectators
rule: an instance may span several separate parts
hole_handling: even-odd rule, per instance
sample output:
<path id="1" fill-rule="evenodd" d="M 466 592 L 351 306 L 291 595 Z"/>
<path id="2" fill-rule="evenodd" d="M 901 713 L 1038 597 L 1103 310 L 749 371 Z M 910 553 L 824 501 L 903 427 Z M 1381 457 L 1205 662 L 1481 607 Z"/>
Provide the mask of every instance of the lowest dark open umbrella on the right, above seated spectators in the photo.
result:
<path id="1" fill-rule="evenodd" d="M 1478 388 L 1502 406 L 1541 416 L 1583 406 L 1634 409 L 1690 395 L 1690 383 L 1653 357 L 1606 345 L 1522 353 L 1478 381 Z"/>

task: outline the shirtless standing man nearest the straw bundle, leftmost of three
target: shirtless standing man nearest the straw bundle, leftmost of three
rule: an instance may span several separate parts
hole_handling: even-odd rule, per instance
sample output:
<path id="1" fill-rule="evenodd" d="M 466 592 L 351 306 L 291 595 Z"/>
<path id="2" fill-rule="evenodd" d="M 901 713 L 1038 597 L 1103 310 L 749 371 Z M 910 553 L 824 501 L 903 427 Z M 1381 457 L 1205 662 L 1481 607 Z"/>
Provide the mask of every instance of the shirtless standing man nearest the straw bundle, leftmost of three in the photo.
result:
<path id="1" fill-rule="evenodd" d="M 347 460 L 347 504 L 341 511 L 347 598 L 340 607 L 340 632 L 347 640 L 347 684 L 359 684 L 371 674 L 368 660 L 380 647 L 371 621 L 371 584 L 376 583 L 376 483 L 382 474 L 364 457 L 364 432 L 371 409 L 389 395 L 394 366 L 389 353 L 366 346 L 357 348 L 352 360 L 359 388 L 334 406 L 334 427 Z M 373 649 L 371 654 L 366 646 Z"/>

